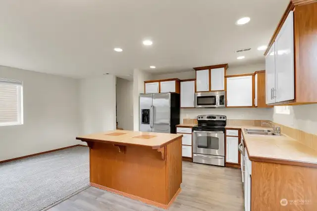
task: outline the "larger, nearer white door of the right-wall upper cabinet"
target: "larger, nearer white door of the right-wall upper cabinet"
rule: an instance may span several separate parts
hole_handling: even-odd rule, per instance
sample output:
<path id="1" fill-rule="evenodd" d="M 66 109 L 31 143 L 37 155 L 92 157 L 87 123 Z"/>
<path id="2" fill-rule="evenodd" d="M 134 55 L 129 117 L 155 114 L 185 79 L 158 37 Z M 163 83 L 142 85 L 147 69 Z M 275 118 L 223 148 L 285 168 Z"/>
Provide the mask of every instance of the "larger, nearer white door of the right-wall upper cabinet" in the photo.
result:
<path id="1" fill-rule="evenodd" d="M 294 19 L 288 14 L 275 40 L 275 102 L 295 99 Z"/>

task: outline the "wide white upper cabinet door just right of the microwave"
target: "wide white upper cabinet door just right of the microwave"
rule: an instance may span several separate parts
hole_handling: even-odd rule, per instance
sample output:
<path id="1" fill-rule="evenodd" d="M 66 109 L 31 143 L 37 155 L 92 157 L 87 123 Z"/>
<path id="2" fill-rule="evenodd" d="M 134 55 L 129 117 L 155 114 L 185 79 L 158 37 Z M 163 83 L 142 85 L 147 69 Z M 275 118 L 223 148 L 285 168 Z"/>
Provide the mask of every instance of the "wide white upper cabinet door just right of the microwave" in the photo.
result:
<path id="1" fill-rule="evenodd" d="M 252 75 L 227 78 L 227 107 L 253 106 Z"/>

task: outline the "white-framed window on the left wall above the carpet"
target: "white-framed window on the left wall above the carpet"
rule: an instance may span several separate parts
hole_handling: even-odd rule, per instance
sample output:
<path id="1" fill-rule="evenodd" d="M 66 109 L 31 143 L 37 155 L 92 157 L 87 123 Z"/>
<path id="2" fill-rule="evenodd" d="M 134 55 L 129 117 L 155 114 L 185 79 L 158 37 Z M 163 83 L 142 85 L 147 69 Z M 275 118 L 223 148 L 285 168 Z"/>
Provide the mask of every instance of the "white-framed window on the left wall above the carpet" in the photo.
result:
<path id="1" fill-rule="evenodd" d="M 0 126 L 23 124 L 21 81 L 0 78 Z"/>

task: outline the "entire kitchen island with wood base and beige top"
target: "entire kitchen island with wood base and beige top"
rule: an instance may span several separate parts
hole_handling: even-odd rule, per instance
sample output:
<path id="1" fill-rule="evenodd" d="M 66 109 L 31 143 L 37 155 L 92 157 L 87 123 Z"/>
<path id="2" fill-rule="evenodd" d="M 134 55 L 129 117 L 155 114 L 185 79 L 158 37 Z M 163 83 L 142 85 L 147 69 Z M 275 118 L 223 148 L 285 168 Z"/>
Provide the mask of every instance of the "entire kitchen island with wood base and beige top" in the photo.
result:
<path id="1" fill-rule="evenodd" d="M 90 185 L 168 209 L 182 183 L 182 136 L 126 130 L 76 137 L 90 150 Z"/>

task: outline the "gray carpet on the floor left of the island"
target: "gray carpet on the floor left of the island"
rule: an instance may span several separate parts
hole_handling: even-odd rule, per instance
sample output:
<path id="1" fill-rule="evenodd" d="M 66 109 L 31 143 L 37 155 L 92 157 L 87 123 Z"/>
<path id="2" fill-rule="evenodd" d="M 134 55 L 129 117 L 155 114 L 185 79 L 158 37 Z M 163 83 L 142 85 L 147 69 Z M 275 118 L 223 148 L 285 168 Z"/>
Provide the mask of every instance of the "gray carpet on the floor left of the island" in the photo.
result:
<path id="1" fill-rule="evenodd" d="M 89 185 L 89 148 L 0 164 L 0 211 L 41 211 Z"/>

